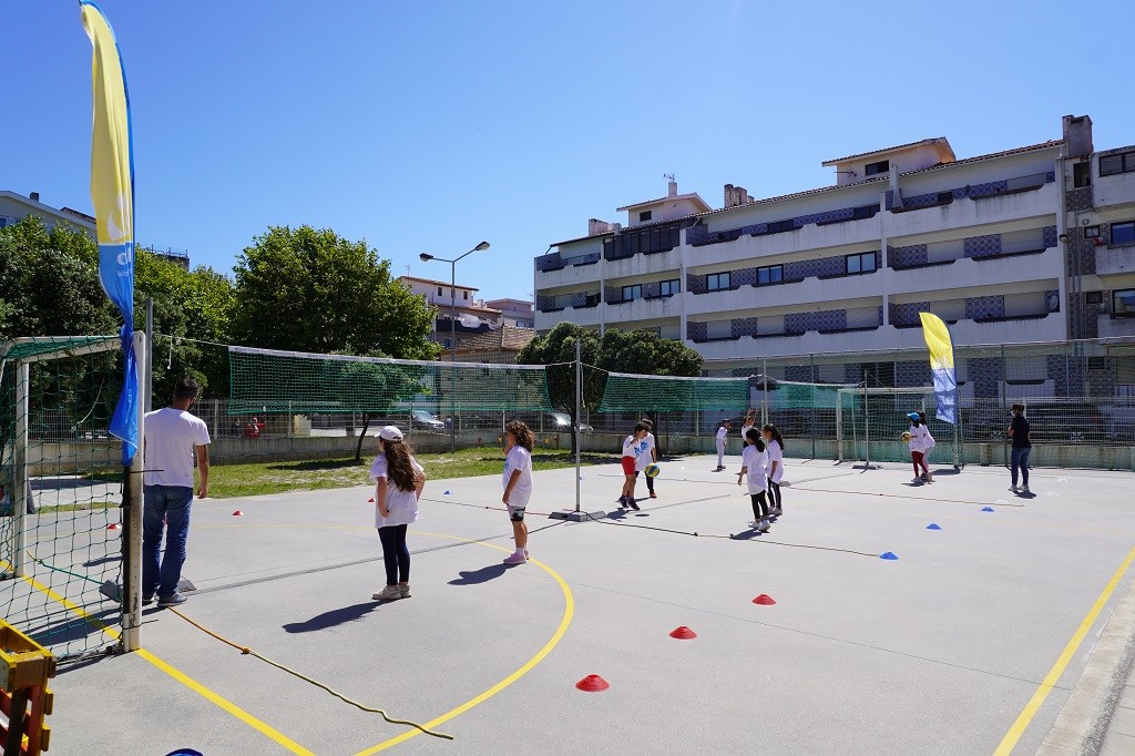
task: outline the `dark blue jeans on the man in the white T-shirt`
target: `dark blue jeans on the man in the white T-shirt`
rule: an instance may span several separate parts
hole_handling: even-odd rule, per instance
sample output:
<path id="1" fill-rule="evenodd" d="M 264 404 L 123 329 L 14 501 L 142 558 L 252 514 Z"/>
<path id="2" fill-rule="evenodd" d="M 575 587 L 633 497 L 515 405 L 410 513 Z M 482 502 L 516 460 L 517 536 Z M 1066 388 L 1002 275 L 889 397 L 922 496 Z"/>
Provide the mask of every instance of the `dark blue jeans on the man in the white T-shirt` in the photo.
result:
<path id="1" fill-rule="evenodd" d="M 190 505 L 193 489 L 183 486 L 146 486 L 142 518 L 142 595 L 173 596 L 185 564 L 185 541 L 190 536 Z M 166 554 L 158 561 L 161 536 Z"/>

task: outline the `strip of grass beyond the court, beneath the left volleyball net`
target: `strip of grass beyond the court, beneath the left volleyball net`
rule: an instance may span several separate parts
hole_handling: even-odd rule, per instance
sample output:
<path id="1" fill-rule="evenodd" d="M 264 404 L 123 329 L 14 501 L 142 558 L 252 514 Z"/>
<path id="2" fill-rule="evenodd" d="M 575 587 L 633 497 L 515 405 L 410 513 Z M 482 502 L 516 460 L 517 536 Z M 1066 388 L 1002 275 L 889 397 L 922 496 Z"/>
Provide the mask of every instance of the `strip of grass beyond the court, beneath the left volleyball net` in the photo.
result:
<path id="1" fill-rule="evenodd" d="M 430 480 L 501 474 L 504 454 L 496 447 L 460 450 L 414 455 Z M 209 469 L 209 495 L 217 498 L 280 494 L 289 490 L 347 488 L 370 484 L 372 456 L 361 462 L 353 457 L 305 460 L 302 462 L 255 462 L 213 464 Z M 617 462 L 611 454 L 582 454 L 582 464 Z M 575 464 L 575 455 L 565 450 L 538 450 L 532 454 L 532 470 L 557 470 Z"/>

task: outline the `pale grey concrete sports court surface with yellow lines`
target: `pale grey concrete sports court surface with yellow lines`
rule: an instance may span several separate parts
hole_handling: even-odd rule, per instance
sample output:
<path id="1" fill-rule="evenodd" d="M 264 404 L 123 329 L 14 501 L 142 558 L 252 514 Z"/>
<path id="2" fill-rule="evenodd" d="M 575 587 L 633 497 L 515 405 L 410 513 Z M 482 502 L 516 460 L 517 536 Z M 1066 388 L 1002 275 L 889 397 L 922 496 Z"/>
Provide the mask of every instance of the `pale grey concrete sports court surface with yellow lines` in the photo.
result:
<path id="1" fill-rule="evenodd" d="M 897 464 L 789 460 L 785 515 L 756 536 L 739 459 L 713 463 L 665 461 L 659 498 L 614 520 L 701 536 L 560 523 L 507 569 L 506 515 L 484 509 L 499 477 L 431 480 L 414 597 L 389 604 L 370 598 L 385 580 L 369 488 L 196 501 L 182 610 L 394 717 L 449 715 L 436 729 L 456 740 L 417 734 L 405 753 L 987 754 L 1135 545 L 1127 473 L 1035 470 L 1020 497 L 1003 469 L 915 487 Z M 583 509 L 615 510 L 617 467 L 582 476 Z M 532 530 L 574 503 L 573 478 L 536 473 Z M 1014 753 L 1036 749 L 1130 582 Z M 413 732 L 170 612 L 148 611 L 142 638 L 148 655 L 62 669 L 51 754 L 355 754 Z M 577 690 L 588 674 L 611 688 Z"/>

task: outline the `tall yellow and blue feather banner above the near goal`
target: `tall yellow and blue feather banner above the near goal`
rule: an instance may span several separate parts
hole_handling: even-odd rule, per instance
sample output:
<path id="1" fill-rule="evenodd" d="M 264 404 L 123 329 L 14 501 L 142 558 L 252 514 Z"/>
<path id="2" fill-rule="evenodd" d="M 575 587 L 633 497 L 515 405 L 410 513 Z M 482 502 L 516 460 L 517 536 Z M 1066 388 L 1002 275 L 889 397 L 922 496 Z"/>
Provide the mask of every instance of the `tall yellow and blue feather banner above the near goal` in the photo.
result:
<path id="1" fill-rule="evenodd" d="M 91 134 L 91 200 L 99 235 L 99 278 L 123 314 L 126 370 L 110 434 L 123 439 L 123 464 L 138 445 L 137 360 L 134 355 L 134 150 L 126 75 L 115 32 L 93 2 L 79 1 L 83 28 L 94 45 L 94 126 Z"/>

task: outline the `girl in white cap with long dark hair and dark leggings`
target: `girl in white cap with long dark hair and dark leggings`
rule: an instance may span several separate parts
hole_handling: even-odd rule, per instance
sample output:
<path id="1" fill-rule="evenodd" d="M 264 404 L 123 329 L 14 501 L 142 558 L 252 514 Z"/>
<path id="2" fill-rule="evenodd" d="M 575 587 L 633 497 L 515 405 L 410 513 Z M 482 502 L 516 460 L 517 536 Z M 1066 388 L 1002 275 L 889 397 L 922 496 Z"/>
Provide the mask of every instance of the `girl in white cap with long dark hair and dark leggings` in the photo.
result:
<path id="1" fill-rule="evenodd" d="M 426 471 L 395 426 L 378 431 L 378 456 L 370 465 L 370 478 L 375 481 L 375 527 L 386 566 L 386 588 L 371 598 L 379 602 L 410 598 L 406 528 L 418 521 L 418 499 L 426 486 Z"/>

